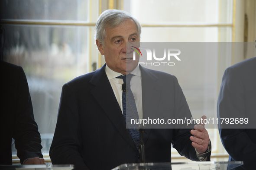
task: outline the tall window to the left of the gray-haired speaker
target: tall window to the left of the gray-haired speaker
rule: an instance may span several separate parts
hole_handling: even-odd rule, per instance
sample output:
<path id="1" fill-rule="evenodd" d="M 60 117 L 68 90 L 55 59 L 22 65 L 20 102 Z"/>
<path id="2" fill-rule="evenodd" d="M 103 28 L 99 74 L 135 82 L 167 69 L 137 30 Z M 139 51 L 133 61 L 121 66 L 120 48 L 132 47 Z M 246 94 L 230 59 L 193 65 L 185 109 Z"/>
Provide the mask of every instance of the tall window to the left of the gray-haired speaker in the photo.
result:
<path id="1" fill-rule="evenodd" d="M 42 152 L 48 154 L 62 85 L 97 69 L 95 24 L 90 22 L 99 13 L 91 8 L 98 9 L 99 4 L 90 0 L 4 0 L 0 6 L 6 30 L 3 60 L 22 66 L 26 73 Z"/>

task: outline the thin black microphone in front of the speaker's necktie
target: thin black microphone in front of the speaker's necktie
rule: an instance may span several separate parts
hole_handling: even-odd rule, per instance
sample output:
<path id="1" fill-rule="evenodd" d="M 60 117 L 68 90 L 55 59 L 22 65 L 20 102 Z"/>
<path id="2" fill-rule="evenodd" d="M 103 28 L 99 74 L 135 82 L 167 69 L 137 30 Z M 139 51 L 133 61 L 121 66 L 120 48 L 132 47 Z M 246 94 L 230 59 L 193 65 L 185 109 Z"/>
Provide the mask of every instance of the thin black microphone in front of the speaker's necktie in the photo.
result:
<path id="1" fill-rule="evenodd" d="M 128 105 L 129 105 L 129 107 L 130 107 L 130 110 L 131 110 L 132 113 L 133 113 L 133 117 L 134 117 L 135 120 L 136 120 L 137 118 L 136 118 L 136 116 L 135 116 L 135 114 L 134 114 L 134 112 L 133 112 L 133 109 L 132 109 L 132 107 L 131 107 L 131 105 L 130 105 L 130 102 L 129 102 L 129 100 L 128 100 L 127 92 L 129 91 L 129 87 L 126 85 L 126 83 L 123 83 L 123 84 L 122 84 L 122 90 L 123 90 L 123 91 L 125 92 L 125 94 L 126 94 L 126 101 L 127 101 Z M 139 142 L 139 157 L 141 158 L 141 161 L 142 161 L 143 163 L 146 163 L 145 145 L 144 145 L 143 137 L 142 137 L 142 135 L 143 135 L 145 129 L 143 129 L 141 125 L 137 125 L 137 126 L 138 126 L 138 129 L 137 129 L 137 130 L 139 130 L 139 138 L 140 138 L 140 142 Z"/>

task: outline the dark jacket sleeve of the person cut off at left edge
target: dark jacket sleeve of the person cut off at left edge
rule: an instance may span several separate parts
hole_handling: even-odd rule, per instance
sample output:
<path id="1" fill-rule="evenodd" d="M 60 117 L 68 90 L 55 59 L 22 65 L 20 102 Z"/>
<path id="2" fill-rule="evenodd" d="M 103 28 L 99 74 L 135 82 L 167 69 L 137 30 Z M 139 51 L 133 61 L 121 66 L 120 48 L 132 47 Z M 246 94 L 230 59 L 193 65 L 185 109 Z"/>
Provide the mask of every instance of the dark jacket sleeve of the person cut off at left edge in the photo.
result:
<path id="1" fill-rule="evenodd" d="M 18 94 L 16 100 L 16 113 L 13 123 L 13 139 L 17 149 L 17 156 L 20 163 L 27 158 L 43 157 L 41 153 L 41 138 L 38 126 L 33 115 L 32 102 L 29 94 L 29 87 L 26 75 L 19 67 Z"/>

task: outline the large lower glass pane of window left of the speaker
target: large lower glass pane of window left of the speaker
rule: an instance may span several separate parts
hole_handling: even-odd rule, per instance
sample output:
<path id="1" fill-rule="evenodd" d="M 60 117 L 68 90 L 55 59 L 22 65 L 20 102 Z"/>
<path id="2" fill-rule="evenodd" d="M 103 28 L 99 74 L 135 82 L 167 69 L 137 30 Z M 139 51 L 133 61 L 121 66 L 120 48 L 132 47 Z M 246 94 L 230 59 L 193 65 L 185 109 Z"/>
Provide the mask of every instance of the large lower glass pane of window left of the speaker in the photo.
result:
<path id="1" fill-rule="evenodd" d="M 42 137 L 42 152 L 49 153 L 62 85 L 89 72 L 92 64 L 89 64 L 90 28 L 45 25 L 4 25 L 4 28 L 4 60 L 22 66 L 26 73 Z"/>

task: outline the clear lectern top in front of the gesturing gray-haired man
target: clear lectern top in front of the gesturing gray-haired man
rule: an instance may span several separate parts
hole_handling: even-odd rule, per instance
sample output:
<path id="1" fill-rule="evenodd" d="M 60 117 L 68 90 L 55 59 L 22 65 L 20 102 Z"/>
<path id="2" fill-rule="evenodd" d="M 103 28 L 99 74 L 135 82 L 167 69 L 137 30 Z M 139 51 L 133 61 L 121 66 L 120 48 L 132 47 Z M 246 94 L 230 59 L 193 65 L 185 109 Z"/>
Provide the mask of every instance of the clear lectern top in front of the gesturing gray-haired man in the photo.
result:
<path id="1" fill-rule="evenodd" d="M 232 170 L 243 161 L 122 164 L 112 170 Z M 227 169 L 229 167 L 229 169 Z"/>

